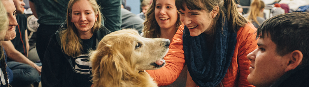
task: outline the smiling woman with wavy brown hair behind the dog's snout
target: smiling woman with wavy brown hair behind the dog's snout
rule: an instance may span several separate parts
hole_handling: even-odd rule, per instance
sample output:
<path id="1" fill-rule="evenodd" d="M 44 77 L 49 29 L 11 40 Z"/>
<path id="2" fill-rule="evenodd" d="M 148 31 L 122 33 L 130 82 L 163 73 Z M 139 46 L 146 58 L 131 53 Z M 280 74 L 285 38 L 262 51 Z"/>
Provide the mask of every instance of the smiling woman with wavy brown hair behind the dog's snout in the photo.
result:
<path id="1" fill-rule="evenodd" d="M 181 25 L 175 0 L 154 0 L 146 13 L 143 37 L 166 38 L 172 41 Z"/>

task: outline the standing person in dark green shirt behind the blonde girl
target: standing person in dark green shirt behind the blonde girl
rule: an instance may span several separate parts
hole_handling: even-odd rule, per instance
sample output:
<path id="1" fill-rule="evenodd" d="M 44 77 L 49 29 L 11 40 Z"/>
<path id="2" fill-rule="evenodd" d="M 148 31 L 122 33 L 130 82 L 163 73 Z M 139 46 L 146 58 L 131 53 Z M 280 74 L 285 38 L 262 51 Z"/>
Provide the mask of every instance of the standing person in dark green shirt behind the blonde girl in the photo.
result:
<path id="1" fill-rule="evenodd" d="M 33 15 L 40 26 L 36 33 L 36 51 L 41 61 L 49 39 L 66 22 L 66 11 L 70 0 L 29 0 Z M 121 30 L 121 0 L 96 0 L 100 5 L 101 25 L 111 32 Z"/>

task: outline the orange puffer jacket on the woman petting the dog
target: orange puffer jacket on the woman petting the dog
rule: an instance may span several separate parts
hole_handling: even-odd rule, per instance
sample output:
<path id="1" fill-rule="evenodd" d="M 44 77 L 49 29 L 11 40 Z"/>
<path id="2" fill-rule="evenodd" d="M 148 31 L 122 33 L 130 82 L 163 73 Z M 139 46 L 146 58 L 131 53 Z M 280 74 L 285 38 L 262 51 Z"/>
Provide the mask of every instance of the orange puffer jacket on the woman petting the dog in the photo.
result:
<path id="1" fill-rule="evenodd" d="M 170 85 L 181 73 L 185 65 L 182 34 L 184 25 L 181 25 L 169 46 L 169 51 L 164 57 L 167 62 L 164 67 L 157 70 L 147 70 L 151 77 L 157 81 L 159 86 Z M 247 54 L 257 48 L 256 28 L 248 23 L 237 32 L 237 43 L 232 57 L 231 65 L 225 77 L 222 79 L 221 87 L 254 87 L 248 80 L 251 61 L 247 59 Z M 223 86 L 222 86 L 223 84 Z"/>

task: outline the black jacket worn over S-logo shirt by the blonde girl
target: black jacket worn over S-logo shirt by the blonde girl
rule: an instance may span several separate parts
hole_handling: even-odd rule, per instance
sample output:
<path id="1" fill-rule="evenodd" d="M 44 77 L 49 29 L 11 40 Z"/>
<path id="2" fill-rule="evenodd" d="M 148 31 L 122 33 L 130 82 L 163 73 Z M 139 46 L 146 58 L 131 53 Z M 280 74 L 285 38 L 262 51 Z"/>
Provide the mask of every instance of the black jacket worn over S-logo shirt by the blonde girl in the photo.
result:
<path id="1" fill-rule="evenodd" d="M 74 71 L 69 61 L 72 57 L 62 52 L 59 38 L 59 32 L 66 28 L 66 26 L 60 28 L 50 38 L 42 62 L 42 87 L 73 87 L 74 82 L 72 82 L 72 79 Z M 94 35 L 97 36 L 96 43 L 98 44 L 99 41 L 109 33 L 111 32 L 102 26 L 94 33 Z"/>

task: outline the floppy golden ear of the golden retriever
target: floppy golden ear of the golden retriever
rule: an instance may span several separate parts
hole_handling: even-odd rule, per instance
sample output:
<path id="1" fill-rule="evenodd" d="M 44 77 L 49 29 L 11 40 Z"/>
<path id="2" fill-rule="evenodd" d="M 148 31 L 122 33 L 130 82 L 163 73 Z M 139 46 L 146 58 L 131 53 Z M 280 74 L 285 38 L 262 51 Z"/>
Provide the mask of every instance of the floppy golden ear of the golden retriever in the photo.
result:
<path id="1" fill-rule="evenodd" d="M 120 86 L 119 79 L 117 79 L 119 77 L 114 75 L 117 73 L 114 68 L 118 63 L 116 64 L 115 59 L 113 59 L 113 50 L 111 50 L 111 48 L 112 45 L 108 45 L 101 41 L 99 42 L 97 49 L 91 52 L 90 61 L 92 63 L 93 87 Z"/>

